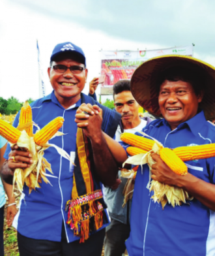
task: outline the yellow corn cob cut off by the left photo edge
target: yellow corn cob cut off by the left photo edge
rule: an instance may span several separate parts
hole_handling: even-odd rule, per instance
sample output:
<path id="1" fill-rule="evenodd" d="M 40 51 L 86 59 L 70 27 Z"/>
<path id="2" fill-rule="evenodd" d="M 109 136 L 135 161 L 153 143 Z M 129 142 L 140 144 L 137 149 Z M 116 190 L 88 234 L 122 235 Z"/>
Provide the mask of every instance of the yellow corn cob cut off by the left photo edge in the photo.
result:
<path id="1" fill-rule="evenodd" d="M 10 143 L 16 143 L 20 138 L 21 131 L 7 123 L 7 121 L 0 119 L 0 135 L 8 140 Z"/>

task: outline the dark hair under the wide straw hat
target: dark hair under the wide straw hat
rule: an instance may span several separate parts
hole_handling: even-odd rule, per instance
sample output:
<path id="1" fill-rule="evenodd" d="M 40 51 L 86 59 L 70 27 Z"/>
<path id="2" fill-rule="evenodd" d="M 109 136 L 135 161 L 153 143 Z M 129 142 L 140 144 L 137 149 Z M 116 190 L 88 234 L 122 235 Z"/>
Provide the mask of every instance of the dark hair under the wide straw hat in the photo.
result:
<path id="1" fill-rule="evenodd" d="M 171 82 L 188 82 L 194 88 L 195 95 L 200 95 L 205 84 L 205 74 L 198 69 L 189 69 L 186 67 L 169 67 L 158 75 L 156 80 L 156 90 L 159 93 L 160 86 L 165 80 Z"/>

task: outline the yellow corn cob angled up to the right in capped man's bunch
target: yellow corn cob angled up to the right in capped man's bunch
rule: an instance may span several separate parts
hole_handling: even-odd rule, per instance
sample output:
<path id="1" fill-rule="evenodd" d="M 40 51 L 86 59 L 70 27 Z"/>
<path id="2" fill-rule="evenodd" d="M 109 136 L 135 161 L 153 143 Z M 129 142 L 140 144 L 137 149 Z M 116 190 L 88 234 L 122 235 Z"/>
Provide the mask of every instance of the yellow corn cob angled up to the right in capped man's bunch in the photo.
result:
<path id="1" fill-rule="evenodd" d="M 48 140 L 50 140 L 50 138 L 62 127 L 63 122 L 64 119 L 61 116 L 50 121 L 50 123 L 35 134 L 36 144 L 42 146 L 42 144 L 48 142 Z"/>

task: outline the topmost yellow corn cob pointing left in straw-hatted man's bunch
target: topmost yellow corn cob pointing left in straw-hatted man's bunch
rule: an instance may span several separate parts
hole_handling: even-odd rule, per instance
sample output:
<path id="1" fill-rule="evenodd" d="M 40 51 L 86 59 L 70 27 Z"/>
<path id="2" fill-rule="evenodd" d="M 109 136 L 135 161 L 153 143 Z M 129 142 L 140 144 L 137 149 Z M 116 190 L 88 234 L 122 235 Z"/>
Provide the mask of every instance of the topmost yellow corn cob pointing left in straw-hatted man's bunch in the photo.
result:
<path id="1" fill-rule="evenodd" d="M 135 146 L 137 148 L 141 148 L 145 151 L 152 150 L 152 146 L 154 145 L 154 140 L 150 140 L 149 138 L 133 135 L 132 133 L 122 133 L 121 140 Z"/>

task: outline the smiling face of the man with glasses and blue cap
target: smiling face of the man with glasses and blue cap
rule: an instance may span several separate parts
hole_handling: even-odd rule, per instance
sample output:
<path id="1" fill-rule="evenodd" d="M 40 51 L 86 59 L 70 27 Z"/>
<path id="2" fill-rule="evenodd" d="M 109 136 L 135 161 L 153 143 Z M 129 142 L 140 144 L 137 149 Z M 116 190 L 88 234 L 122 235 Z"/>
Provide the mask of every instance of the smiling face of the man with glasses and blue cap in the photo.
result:
<path id="1" fill-rule="evenodd" d="M 66 67 L 79 66 L 85 67 L 82 63 L 74 61 L 72 59 L 63 59 L 61 61 L 53 61 L 52 67 L 55 65 L 64 65 Z M 64 73 L 59 73 L 53 70 L 53 68 L 48 68 L 48 75 L 50 77 L 51 86 L 55 91 L 55 96 L 57 99 L 72 99 L 79 97 L 81 91 L 85 86 L 87 79 L 87 69 L 84 69 L 79 74 L 73 74 L 69 69 Z"/>

